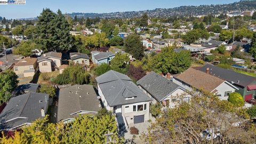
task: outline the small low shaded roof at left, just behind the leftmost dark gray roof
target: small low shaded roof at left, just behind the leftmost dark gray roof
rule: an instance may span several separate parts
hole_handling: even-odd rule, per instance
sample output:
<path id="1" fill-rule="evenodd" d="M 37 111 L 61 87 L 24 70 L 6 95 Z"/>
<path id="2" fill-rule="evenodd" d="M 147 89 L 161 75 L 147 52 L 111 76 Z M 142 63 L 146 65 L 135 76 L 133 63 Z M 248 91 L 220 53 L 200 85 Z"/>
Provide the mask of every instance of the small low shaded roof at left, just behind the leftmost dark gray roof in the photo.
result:
<path id="1" fill-rule="evenodd" d="M 14 94 L 22 94 L 22 93 L 26 93 L 26 92 L 36 92 L 38 89 L 39 84 L 22 84 L 19 85 L 15 90 L 14 90 Z"/>

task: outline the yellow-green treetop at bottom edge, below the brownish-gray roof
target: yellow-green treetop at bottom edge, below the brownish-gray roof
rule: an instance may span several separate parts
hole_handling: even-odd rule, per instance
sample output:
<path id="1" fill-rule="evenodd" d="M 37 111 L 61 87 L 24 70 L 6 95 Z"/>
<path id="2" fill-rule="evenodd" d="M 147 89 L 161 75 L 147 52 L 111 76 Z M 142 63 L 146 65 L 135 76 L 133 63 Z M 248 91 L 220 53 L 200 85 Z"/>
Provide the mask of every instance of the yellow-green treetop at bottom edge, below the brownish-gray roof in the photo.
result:
<path id="1" fill-rule="evenodd" d="M 113 143 L 123 143 L 118 137 L 118 127 L 115 116 L 102 115 L 77 117 L 73 123 L 68 123 L 62 136 L 63 143 L 106 143 L 107 134 Z M 115 141 L 115 142 L 114 142 Z"/>

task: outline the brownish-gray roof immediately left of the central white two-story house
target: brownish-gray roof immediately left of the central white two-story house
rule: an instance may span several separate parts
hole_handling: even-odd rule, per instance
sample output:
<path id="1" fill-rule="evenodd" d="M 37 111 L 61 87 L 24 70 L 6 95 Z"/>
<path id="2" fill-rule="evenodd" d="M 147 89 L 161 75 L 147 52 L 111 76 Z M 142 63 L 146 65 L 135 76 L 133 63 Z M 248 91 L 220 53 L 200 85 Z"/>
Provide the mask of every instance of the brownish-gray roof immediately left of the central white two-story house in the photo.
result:
<path id="1" fill-rule="evenodd" d="M 95 114 L 100 108 L 100 102 L 92 85 L 73 85 L 60 90 L 57 120 L 59 122 L 79 116 L 74 114 L 78 111 Z"/>

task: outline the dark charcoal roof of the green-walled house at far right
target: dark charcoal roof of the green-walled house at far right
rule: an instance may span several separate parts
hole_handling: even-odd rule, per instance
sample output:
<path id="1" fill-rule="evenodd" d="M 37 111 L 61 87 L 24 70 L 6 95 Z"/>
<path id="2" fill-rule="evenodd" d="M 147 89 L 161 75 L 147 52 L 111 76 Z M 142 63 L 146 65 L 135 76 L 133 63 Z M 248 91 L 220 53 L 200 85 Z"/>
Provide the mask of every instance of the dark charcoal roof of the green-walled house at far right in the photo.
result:
<path id="1" fill-rule="evenodd" d="M 225 79 L 226 81 L 233 83 L 238 86 L 246 87 L 247 85 L 250 85 L 253 81 L 256 80 L 255 77 L 244 75 L 241 73 L 236 73 L 233 70 L 215 67 L 213 65 L 206 64 L 199 70 L 205 72 L 206 68 L 210 68 L 210 74 L 222 79 Z"/>

